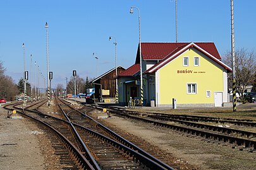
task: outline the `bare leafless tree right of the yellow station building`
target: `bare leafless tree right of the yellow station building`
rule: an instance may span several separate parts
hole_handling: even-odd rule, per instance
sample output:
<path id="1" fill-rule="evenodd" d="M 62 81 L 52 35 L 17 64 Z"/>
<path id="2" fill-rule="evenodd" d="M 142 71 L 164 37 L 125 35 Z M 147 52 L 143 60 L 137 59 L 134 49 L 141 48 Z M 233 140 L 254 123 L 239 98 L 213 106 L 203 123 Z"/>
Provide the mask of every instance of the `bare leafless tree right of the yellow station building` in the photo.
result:
<path id="1" fill-rule="evenodd" d="M 255 82 L 256 71 L 256 54 L 253 51 L 248 52 L 245 48 L 240 48 L 235 52 L 235 69 L 236 69 L 236 92 L 243 99 L 243 93 L 248 85 Z M 231 52 L 226 52 L 222 56 L 223 61 L 232 66 Z M 232 76 L 229 76 L 229 87 L 232 86 Z"/>

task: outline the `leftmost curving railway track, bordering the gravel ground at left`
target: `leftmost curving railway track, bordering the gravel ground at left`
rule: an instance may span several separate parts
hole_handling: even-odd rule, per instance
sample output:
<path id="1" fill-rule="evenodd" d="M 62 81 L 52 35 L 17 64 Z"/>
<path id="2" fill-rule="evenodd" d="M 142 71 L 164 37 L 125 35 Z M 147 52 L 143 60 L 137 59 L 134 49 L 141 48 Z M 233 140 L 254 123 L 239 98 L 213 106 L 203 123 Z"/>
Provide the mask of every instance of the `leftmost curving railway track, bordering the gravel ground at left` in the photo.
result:
<path id="1" fill-rule="evenodd" d="M 28 106 L 28 108 L 34 105 L 42 105 L 41 102 L 34 103 L 33 105 Z M 68 138 L 66 138 L 62 133 L 60 133 L 56 128 L 52 127 L 48 120 L 47 116 L 39 115 L 37 111 L 28 110 L 19 105 L 22 103 L 15 103 L 11 105 L 4 106 L 7 110 L 16 110 L 21 115 L 30 118 L 34 122 L 38 123 L 39 128 L 41 128 L 51 140 L 52 147 L 55 150 L 56 155 L 60 157 L 61 169 L 94 169 L 92 165 L 85 159 L 83 154 L 76 149 Z"/>

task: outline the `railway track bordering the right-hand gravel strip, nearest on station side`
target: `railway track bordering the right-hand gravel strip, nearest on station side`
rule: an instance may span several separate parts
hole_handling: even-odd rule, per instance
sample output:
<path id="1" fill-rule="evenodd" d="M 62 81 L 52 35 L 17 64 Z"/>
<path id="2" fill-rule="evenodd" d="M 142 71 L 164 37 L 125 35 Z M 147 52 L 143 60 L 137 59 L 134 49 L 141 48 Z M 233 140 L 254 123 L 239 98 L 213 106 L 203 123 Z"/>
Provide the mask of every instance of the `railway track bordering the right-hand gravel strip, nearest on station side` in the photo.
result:
<path id="1" fill-rule="evenodd" d="M 95 107 L 102 109 L 101 106 Z M 240 147 L 241 150 L 245 149 L 250 152 L 255 152 L 256 150 L 256 135 L 253 132 L 166 118 L 166 114 L 161 116 L 159 113 L 139 113 L 116 108 L 111 108 L 110 111 L 116 115 L 125 116 L 126 118 L 138 120 L 140 122 L 150 123 L 152 125 L 171 128 L 180 132 L 204 137 L 207 142 L 228 142 L 233 148 Z"/>

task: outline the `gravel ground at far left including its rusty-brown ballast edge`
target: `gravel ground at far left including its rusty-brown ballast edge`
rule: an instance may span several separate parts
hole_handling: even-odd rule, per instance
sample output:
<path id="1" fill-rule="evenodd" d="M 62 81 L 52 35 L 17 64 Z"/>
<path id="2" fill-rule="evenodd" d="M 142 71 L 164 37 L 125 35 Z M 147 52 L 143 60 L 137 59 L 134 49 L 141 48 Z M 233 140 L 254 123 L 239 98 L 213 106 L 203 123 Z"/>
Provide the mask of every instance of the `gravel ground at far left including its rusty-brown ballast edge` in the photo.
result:
<path id="1" fill-rule="evenodd" d="M 61 164 L 44 131 L 23 116 L 7 118 L 0 106 L 0 170 L 9 169 L 55 170 Z"/>

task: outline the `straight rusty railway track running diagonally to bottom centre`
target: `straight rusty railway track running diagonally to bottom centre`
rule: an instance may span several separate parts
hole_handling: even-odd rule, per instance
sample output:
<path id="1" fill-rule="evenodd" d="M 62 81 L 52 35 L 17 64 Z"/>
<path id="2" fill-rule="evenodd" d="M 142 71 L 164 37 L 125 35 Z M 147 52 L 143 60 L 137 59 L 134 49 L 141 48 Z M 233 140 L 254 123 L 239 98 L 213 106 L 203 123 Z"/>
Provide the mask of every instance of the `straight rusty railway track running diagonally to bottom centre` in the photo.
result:
<path id="1" fill-rule="evenodd" d="M 129 142 L 126 139 L 123 139 L 123 137 L 119 136 L 117 133 L 113 132 L 109 128 L 104 127 L 104 125 L 95 121 L 93 118 L 91 118 L 87 114 L 82 113 L 82 111 L 79 111 L 76 109 L 74 110 L 74 108 L 71 107 L 69 103 L 67 103 L 66 101 L 61 100 L 61 102 L 67 105 L 59 104 L 59 107 L 61 108 L 61 110 L 66 111 L 68 117 L 72 120 L 75 127 L 80 130 L 80 134 L 83 134 L 82 135 L 83 139 L 85 141 L 89 141 L 87 145 L 90 145 L 89 148 L 92 149 L 92 152 L 97 153 L 94 156 L 96 157 L 97 162 L 99 162 L 100 165 L 104 165 L 104 167 L 109 168 L 110 163 L 108 161 L 110 161 L 113 163 L 112 166 L 114 165 L 117 166 L 113 168 L 120 168 L 121 166 L 121 167 L 130 167 L 131 169 L 136 169 L 138 167 L 138 164 L 137 165 L 135 164 L 134 156 L 133 156 L 133 159 L 131 158 L 127 159 L 126 157 L 125 160 L 120 160 L 120 158 L 123 155 L 127 155 L 125 154 L 125 152 L 128 152 L 131 155 L 138 154 L 137 156 L 135 156 L 135 160 L 139 158 L 148 162 L 147 164 L 152 164 L 151 162 L 155 162 L 156 164 L 159 164 L 160 166 L 166 169 L 173 169 L 167 164 L 164 164 L 158 159 L 155 159 L 155 157 L 143 151 L 142 149 L 137 147 L 137 145 L 132 144 L 131 142 Z M 91 109 L 87 111 L 91 111 Z M 88 138 L 92 138 L 94 139 L 92 141 L 100 142 L 100 143 L 94 144 L 91 142 L 91 140 L 88 140 Z M 99 139 L 101 139 L 101 141 L 99 141 Z M 101 150 L 99 151 L 95 150 L 95 148 L 101 145 L 102 145 L 102 148 L 106 147 L 106 149 L 101 148 Z M 116 149 L 111 150 L 110 148 L 112 148 L 113 145 L 115 145 L 116 147 L 120 148 L 123 151 L 121 152 L 119 151 L 119 153 L 117 153 Z M 131 159 L 131 162 L 128 164 L 128 161 L 130 159 Z M 142 163 L 142 161 L 139 161 L 139 162 Z M 141 168 L 142 167 L 139 167 L 139 169 Z M 156 167 L 154 166 L 154 164 L 152 164 L 150 165 L 150 168 L 158 169 L 159 167 Z"/>

